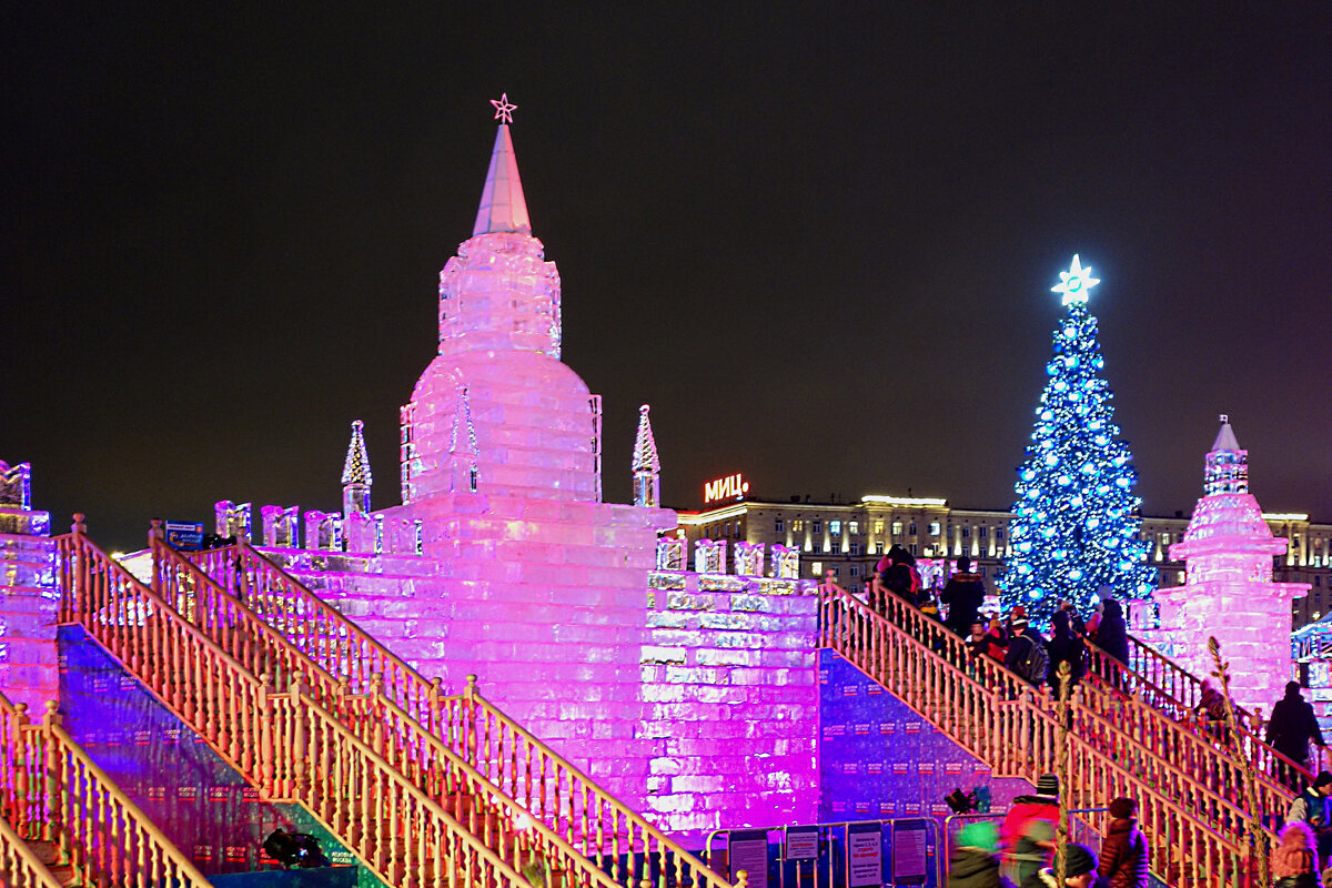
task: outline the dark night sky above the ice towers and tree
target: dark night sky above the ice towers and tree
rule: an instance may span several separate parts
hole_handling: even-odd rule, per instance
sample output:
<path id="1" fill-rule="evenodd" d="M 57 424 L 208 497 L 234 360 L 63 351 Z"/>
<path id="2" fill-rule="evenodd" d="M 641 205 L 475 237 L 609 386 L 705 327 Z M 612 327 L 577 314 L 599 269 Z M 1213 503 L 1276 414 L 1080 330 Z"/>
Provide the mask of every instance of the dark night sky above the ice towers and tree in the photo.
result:
<path id="1" fill-rule="evenodd" d="M 216 499 L 333 509 L 398 406 L 507 91 L 607 499 L 1006 509 L 1072 253 L 1148 514 L 1216 414 L 1332 522 L 1324 3 L 11 4 L 0 459 L 108 549 Z"/>

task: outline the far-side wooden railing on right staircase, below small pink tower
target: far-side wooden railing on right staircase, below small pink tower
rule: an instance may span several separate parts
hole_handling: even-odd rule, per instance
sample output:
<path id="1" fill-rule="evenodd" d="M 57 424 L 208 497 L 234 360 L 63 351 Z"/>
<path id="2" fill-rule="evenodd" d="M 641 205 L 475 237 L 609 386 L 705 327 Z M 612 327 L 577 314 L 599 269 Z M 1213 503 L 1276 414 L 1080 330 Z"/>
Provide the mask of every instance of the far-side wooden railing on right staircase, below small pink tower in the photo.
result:
<path id="1" fill-rule="evenodd" d="M 1135 651 L 1139 652 L 1135 654 Z M 1146 651 L 1151 651 L 1151 654 Z M 1128 659 L 1130 663 L 1146 666 L 1147 671 L 1139 672 L 1120 663 L 1099 648 L 1095 642 L 1088 640 L 1088 687 L 1112 699 L 1128 700 L 1132 698 L 1158 712 L 1166 724 L 1173 726 L 1173 730 L 1191 734 L 1199 738 L 1203 744 L 1228 748 L 1232 752 L 1237 751 L 1253 764 L 1259 781 L 1268 784 L 1285 799 L 1287 807 L 1295 799 L 1292 787 L 1313 783 L 1313 771 L 1263 742 L 1257 734 L 1257 726 L 1251 723 L 1248 714 L 1239 710 L 1235 714 L 1239 726 L 1237 738 L 1235 738 L 1237 743 L 1235 743 L 1224 720 L 1208 719 L 1205 714 L 1197 712 L 1203 683 L 1184 667 L 1147 647 L 1144 642 L 1132 635 L 1130 635 Z M 1156 683 L 1155 679 L 1163 678 L 1175 691 Z M 1189 699 L 1195 700 L 1192 706 L 1187 703 Z"/>

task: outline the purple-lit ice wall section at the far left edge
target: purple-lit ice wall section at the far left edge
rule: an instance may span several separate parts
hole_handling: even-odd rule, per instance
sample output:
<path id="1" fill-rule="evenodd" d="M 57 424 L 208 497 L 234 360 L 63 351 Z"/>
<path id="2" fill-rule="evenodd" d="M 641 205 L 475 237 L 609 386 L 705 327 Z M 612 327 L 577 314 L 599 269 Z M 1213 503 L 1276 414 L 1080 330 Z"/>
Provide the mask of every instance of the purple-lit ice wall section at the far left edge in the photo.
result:
<path id="1" fill-rule="evenodd" d="M 0 534 L 0 690 L 33 718 L 60 692 L 55 559 L 49 537 Z"/>

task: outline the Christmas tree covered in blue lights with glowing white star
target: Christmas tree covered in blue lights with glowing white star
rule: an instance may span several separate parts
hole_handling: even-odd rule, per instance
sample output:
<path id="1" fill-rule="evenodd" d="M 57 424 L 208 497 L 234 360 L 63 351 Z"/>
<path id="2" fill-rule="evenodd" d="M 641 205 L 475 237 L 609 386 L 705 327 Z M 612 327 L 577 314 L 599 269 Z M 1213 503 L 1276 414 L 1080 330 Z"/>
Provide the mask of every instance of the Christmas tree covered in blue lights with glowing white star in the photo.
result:
<path id="1" fill-rule="evenodd" d="M 1096 318 L 1087 312 L 1087 290 L 1100 280 L 1076 256 L 1059 277 L 1051 290 L 1063 294 L 1068 314 L 1055 329 L 1050 382 L 1018 470 L 1012 554 L 999 579 L 1004 607 L 1024 604 L 1042 624 L 1060 598 L 1086 612 L 1102 586 L 1120 599 L 1147 598 L 1155 586 L 1138 538 L 1134 455 L 1115 425 Z"/>

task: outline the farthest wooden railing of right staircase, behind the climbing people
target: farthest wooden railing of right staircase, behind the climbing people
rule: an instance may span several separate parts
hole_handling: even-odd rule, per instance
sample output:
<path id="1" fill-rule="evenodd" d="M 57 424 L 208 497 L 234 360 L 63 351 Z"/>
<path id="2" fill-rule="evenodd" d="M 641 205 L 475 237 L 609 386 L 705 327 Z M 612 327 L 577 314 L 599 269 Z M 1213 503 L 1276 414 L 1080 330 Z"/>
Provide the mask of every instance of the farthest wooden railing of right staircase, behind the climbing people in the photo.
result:
<path id="1" fill-rule="evenodd" d="M 1132 636 L 1130 638 L 1132 639 Z M 1106 650 L 1098 646 L 1092 639 L 1086 639 L 1086 642 L 1088 654 L 1087 675 L 1088 678 L 1096 675 L 1103 679 L 1102 683 L 1095 684 L 1095 687 L 1103 694 L 1122 699 L 1136 696 L 1139 700 L 1146 703 L 1152 710 L 1156 710 L 1167 720 L 1173 723 L 1177 730 L 1197 736 L 1203 740 L 1203 743 L 1216 743 L 1224 740 L 1221 746 L 1231 750 L 1237 748 L 1240 754 L 1253 764 L 1257 779 L 1263 783 L 1271 784 L 1273 788 L 1287 795 L 1287 803 L 1295 797 L 1295 792 L 1291 787 L 1300 785 L 1300 781 L 1313 783 L 1313 771 L 1296 763 L 1289 756 L 1276 751 L 1272 746 L 1261 740 L 1259 735 L 1249 728 L 1245 714 L 1241 711 L 1236 711 L 1239 743 L 1232 744 L 1227 740 L 1229 735 L 1229 726 L 1211 719 L 1199 718 L 1199 703 L 1188 706 L 1179 696 L 1156 684 L 1150 676 L 1144 676 L 1134 671 L 1119 659 L 1106 652 Z M 1134 642 L 1144 644 L 1138 639 L 1134 639 Z M 1201 682 L 1196 679 L 1192 672 L 1185 671 L 1169 658 L 1158 654 L 1156 651 L 1152 652 L 1156 654 L 1162 662 L 1168 663 L 1173 670 L 1176 670 L 1179 675 L 1187 676 L 1189 682 L 1196 683 L 1196 686 L 1201 688 Z M 1130 659 L 1134 659 L 1132 654 L 1130 655 Z M 1200 696 L 1199 700 L 1201 700 Z"/>

